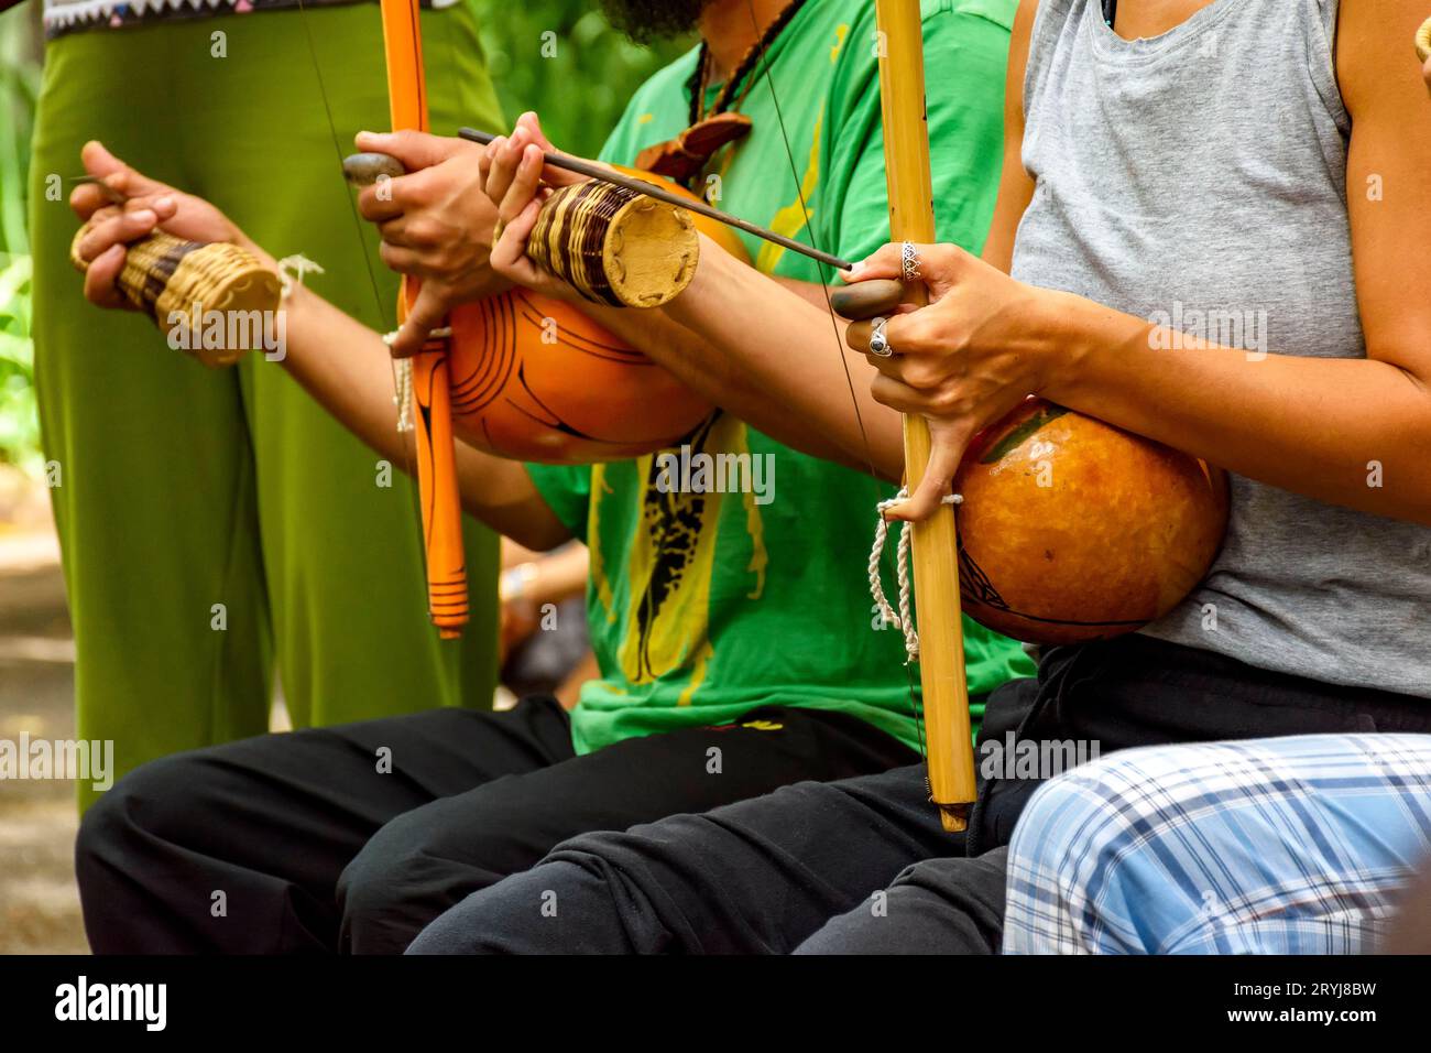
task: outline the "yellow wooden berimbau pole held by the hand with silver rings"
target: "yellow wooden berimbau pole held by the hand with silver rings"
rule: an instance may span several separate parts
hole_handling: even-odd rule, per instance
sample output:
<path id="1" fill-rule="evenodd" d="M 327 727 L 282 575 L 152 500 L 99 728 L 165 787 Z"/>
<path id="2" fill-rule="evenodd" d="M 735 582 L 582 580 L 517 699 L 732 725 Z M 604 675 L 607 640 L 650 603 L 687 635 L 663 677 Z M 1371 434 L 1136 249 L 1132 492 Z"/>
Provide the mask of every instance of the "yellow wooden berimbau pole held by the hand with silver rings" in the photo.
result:
<path id="1" fill-rule="evenodd" d="M 934 241 L 929 128 L 924 116 L 924 42 L 919 0 L 876 0 L 880 34 L 880 106 L 884 115 L 884 168 L 890 199 L 890 238 Z M 912 282 L 907 302 L 926 304 Z M 913 491 L 929 464 L 929 423 L 904 417 L 904 474 Z M 969 682 L 959 607 L 954 510 L 942 506 L 914 524 L 914 596 L 919 602 L 919 672 L 924 695 L 929 788 L 944 830 L 967 825 L 977 795 Z"/>

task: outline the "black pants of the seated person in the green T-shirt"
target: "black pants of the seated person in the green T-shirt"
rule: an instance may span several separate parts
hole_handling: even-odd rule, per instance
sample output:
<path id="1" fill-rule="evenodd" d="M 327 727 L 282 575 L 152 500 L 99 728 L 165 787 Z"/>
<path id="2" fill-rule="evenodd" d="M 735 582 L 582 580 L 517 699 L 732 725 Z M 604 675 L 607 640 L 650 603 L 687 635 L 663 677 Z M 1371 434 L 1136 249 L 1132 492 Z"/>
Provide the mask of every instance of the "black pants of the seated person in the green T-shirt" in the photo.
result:
<path id="1" fill-rule="evenodd" d="M 550 698 L 263 735 L 147 764 L 90 808 L 84 927 L 97 953 L 398 953 L 584 831 L 913 756 L 856 718 L 788 708 L 574 756 Z"/>

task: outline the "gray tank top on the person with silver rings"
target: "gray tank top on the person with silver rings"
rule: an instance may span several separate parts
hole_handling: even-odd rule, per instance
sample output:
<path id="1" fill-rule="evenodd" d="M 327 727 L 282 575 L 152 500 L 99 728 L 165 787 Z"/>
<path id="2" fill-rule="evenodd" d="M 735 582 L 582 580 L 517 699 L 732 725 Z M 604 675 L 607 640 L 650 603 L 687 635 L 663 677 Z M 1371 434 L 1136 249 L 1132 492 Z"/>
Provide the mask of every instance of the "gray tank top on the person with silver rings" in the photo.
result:
<path id="1" fill-rule="evenodd" d="M 1013 277 L 1252 355 L 1364 358 L 1337 0 L 1215 0 L 1136 42 L 1099 6 L 1039 6 Z M 1143 632 L 1431 698 L 1428 599 L 1427 527 L 1234 477 L 1212 572 Z"/>

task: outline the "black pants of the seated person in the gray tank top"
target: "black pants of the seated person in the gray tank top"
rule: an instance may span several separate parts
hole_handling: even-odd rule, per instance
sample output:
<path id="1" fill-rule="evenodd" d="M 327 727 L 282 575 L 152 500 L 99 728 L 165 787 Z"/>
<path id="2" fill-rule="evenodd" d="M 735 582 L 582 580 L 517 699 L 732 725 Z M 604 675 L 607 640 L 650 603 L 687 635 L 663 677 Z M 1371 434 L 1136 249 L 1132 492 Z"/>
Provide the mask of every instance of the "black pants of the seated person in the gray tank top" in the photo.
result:
<path id="1" fill-rule="evenodd" d="M 1424 699 L 1268 673 L 1139 636 L 1049 652 L 983 741 L 1128 746 L 1431 731 Z M 980 779 L 942 831 L 922 765 L 587 834 L 449 910 L 409 953 L 993 953 L 1005 854 L 1037 778 Z"/>

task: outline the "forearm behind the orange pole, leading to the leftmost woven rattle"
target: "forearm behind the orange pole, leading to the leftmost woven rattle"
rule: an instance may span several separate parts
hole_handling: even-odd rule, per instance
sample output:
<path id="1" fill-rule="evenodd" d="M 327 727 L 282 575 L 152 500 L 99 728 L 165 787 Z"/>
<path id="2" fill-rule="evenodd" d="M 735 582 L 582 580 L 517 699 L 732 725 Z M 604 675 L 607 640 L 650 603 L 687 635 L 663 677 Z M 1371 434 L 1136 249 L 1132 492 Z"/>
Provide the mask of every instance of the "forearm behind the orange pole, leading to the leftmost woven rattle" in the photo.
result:
<path id="1" fill-rule="evenodd" d="M 285 301 L 283 368 L 379 457 L 414 464 L 412 444 L 396 430 L 392 358 L 382 338 L 315 292 L 296 287 Z M 529 549 L 570 539 L 522 464 L 456 443 L 464 509 Z"/>

